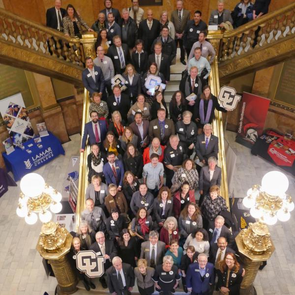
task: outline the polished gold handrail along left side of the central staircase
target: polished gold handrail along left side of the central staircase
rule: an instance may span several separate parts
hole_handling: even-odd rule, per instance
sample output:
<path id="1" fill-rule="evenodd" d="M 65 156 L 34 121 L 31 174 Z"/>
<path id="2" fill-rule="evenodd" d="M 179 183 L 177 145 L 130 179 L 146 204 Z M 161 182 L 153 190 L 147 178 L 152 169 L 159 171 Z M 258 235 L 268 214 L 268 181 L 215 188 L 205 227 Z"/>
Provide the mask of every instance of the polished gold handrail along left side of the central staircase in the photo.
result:
<path id="1" fill-rule="evenodd" d="M 84 89 L 84 106 L 83 106 L 83 119 L 82 119 L 82 131 L 81 135 L 83 137 L 84 126 L 90 121 L 89 116 L 89 91 Z M 82 142 L 82 138 L 81 138 Z M 79 186 L 78 186 L 78 200 L 76 207 L 76 232 L 81 221 L 81 213 L 85 207 L 85 193 L 88 186 L 88 166 L 87 166 L 87 156 L 89 155 L 91 148 L 86 145 L 84 152 L 80 153 L 80 169 L 79 169 Z"/>

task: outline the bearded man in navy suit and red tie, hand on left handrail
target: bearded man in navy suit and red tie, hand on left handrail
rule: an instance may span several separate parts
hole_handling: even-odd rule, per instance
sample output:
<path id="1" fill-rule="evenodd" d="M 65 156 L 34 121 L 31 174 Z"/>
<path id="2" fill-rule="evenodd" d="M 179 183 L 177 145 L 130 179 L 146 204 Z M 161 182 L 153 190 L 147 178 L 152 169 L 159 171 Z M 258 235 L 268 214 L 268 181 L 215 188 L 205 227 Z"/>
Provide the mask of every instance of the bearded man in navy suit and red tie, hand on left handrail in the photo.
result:
<path id="1" fill-rule="evenodd" d="M 106 120 L 99 120 L 98 114 L 95 111 L 90 113 L 91 122 L 86 123 L 84 126 L 82 145 L 80 152 L 84 152 L 86 147 L 86 141 L 90 146 L 98 144 L 101 148 L 102 142 L 106 139 L 107 135 L 107 123 Z"/>

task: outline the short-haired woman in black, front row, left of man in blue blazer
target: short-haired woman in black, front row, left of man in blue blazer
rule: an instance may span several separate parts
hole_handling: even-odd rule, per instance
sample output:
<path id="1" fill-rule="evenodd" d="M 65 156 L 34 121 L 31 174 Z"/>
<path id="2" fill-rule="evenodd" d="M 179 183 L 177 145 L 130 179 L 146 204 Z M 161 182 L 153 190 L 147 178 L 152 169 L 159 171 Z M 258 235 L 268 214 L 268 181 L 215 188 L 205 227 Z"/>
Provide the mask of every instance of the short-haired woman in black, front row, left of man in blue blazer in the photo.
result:
<path id="1" fill-rule="evenodd" d="M 175 293 L 180 275 L 178 267 L 173 264 L 172 256 L 163 257 L 163 264 L 156 266 L 152 279 L 155 282 L 156 291 L 161 295 Z"/>

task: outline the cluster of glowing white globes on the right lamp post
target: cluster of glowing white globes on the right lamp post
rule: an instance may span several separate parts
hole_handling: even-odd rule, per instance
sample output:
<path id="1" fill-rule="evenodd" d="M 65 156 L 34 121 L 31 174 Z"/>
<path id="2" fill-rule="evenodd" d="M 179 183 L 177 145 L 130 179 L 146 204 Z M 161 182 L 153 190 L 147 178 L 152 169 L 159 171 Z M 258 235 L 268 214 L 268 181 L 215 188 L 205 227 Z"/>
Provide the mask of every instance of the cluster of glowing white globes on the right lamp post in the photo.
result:
<path id="1" fill-rule="evenodd" d="M 250 208 L 252 217 L 268 225 L 280 221 L 288 221 L 290 212 L 294 210 L 291 196 L 286 194 L 289 181 L 286 175 L 279 171 L 266 173 L 261 185 L 253 185 L 243 199 L 243 205 Z"/>

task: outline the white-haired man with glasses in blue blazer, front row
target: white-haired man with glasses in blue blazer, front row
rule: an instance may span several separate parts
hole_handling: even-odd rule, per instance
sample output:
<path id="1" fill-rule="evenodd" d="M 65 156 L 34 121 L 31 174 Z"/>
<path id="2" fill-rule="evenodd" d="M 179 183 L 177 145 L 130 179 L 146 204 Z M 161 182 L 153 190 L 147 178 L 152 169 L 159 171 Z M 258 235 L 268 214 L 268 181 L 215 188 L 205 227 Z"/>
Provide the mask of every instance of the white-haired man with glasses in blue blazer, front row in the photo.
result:
<path id="1" fill-rule="evenodd" d="M 208 262 L 207 255 L 200 253 L 198 262 L 188 266 L 186 287 L 191 295 L 209 295 L 210 285 L 214 284 L 214 265 Z"/>

